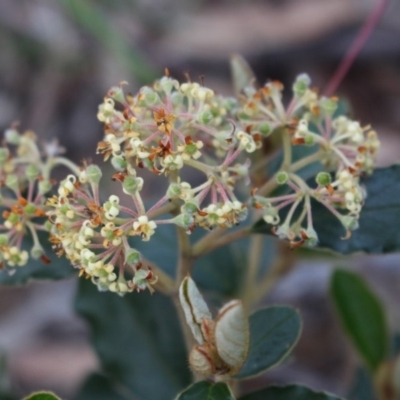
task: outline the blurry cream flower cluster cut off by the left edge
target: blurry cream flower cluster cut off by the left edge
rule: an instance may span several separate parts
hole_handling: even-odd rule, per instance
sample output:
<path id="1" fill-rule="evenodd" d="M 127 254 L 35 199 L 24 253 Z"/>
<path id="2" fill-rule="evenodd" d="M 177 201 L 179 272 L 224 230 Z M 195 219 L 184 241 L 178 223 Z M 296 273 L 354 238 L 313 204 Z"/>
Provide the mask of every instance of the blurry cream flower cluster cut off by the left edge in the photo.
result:
<path id="1" fill-rule="evenodd" d="M 41 149 L 31 131 L 20 133 L 13 126 L 5 132 L 0 147 L 0 267 L 9 273 L 26 265 L 29 256 L 49 262 L 39 232 L 47 229 L 46 196 L 61 152 L 56 142 Z M 25 236 L 31 237 L 31 246 L 23 246 Z"/>

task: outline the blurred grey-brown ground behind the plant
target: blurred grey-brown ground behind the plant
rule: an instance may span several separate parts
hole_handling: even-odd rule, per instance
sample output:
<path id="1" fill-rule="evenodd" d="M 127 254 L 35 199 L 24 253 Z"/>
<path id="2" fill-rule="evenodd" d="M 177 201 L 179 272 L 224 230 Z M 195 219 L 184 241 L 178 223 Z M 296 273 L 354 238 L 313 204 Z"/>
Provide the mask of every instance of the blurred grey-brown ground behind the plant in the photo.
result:
<path id="1" fill-rule="evenodd" d="M 231 94 L 229 56 L 242 54 L 260 83 L 290 89 L 307 72 L 326 87 L 377 0 L 0 0 L 0 129 L 20 121 L 67 155 L 95 158 L 98 104 L 126 80 L 135 92 L 168 68 Z M 400 159 L 400 1 L 392 0 L 341 84 L 356 119 L 382 141 L 379 165 Z M 400 331 L 400 257 L 358 257 Z M 304 333 L 293 359 L 267 375 L 348 393 L 357 360 L 327 298 L 331 265 L 299 265 L 267 302 L 294 304 Z M 0 288 L 1 385 L 18 395 L 51 389 L 71 398 L 97 368 L 85 324 L 72 311 L 75 281 Z M 263 378 L 265 380 L 265 378 Z M 260 379 L 253 381 L 255 388 Z M 263 383 L 262 385 L 264 385 Z M 1 399 L 0 399 L 1 400 Z"/>

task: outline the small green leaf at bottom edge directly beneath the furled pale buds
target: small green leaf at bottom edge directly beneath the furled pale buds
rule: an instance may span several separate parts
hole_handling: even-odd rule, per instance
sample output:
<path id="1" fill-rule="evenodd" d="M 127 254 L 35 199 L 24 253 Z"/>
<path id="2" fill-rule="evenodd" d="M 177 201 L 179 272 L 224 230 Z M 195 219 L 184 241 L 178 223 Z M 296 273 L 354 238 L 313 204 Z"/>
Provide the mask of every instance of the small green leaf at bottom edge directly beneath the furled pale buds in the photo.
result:
<path id="1" fill-rule="evenodd" d="M 189 386 L 176 400 L 235 400 L 235 398 L 226 383 L 202 381 Z"/>

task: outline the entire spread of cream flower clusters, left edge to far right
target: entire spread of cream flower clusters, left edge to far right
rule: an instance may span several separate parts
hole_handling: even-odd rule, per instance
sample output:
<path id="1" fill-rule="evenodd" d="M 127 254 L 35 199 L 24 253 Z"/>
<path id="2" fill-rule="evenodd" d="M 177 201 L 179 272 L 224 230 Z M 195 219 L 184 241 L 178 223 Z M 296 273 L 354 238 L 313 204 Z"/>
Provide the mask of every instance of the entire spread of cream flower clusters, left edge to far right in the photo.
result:
<path id="1" fill-rule="evenodd" d="M 373 171 L 379 140 L 369 126 L 340 115 L 336 98 L 320 97 L 307 75 L 296 79 L 287 106 L 279 82 L 247 87 L 238 99 L 168 74 L 134 96 L 123 85 L 99 106 L 104 138 L 97 153 L 111 161 L 113 180 L 131 205 L 116 194 L 100 200 L 98 166 L 78 168 L 59 156 L 55 144 L 40 150 L 32 132 L 12 128 L 0 147 L 1 265 L 27 263 L 26 233 L 33 239 L 31 256 L 47 262 L 38 231 L 50 231 L 58 255 L 100 290 L 123 295 L 153 290 L 157 276 L 130 243 L 133 237 L 149 241 L 161 224 L 188 234 L 196 227 L 225 229 L 244 221 L 253 207 L 280 238 L 312 246 L 318 242 L 314 200 L 348 234 L 357 228 L 366 197 L 360 177 Z M 260 161 L 270 135 L 280 136 L 283 161 L 269 181 L 247 190 L 248 182 L 260 182 L 251 163 Z M 301 158 L 294 159 L 295 146 L 306 150 Z M 57 165 L 71 173 L 54 194 L 50 175 Z M 310 165 L 319 168 L 316 184 L 303 173 Z M 166 192 L 150 207 L 142 197 L 144 170 L 168 179 Z"/>

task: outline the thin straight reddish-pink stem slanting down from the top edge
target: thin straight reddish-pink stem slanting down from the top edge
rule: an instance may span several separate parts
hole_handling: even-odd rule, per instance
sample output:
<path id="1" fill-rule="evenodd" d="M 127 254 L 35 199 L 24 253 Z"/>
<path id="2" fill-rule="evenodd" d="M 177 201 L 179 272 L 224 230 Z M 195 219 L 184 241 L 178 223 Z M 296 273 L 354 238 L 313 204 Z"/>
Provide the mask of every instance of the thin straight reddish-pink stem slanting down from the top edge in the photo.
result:
<path id="1" fill-rule="evenodd" d="M 334 92 L 336 92 L 337 88 L 339 87 L 343 78 L 346 76 L 350 67 L 353 65 L 355 59 L 364 47 L 371 33 L 374 31 L 388 4 L 389 0 L 379 0 L 369 18 L 361 27 L 356 39 L 354 40 L 350 49 L 347 51 L 346 56 L 343 58 L 339 64 L 339 67 L 329 81 L 327 88 L 325 89 L 325 96 L 331 96 Z"/>

